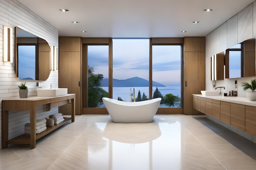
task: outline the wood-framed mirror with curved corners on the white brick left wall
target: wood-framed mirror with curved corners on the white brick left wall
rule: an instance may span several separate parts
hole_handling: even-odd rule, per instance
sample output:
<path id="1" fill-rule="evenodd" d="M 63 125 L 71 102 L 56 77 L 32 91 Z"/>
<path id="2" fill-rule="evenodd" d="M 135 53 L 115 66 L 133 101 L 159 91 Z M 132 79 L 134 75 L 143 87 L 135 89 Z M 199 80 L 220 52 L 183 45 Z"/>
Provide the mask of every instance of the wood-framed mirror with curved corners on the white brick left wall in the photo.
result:
<path id="1" fill-rule="evenodd" d="M 15 27 L 15 71 L 20 79 L 45 81 L 51 70 L 51 49 L 42 38 Z"/>

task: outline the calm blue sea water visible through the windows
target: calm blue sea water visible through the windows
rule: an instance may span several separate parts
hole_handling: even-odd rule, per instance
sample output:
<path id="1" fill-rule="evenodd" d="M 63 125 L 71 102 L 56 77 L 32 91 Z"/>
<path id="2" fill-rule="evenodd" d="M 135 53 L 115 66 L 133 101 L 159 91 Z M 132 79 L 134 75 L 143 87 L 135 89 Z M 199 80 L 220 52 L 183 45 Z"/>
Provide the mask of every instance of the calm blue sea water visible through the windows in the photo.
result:
<path id="1" fill-rule="evenodd" d="M 105 91 L 108 91 L 108 87 L 101 87 Z M 138 92 L 140 91 L 141 97 L 143 93 L 148 96 L 148 87 L 113 87 L 113 99 L 117 99 L 118 97 L 121 97 L 124 101 L 129 102 L 130 100 L 130 93 L 133 93 L 133 88 L 135 89 L 135 98 L 138 96 Z M 175 96 L 181 96 L 180 86 L 166 86 L 166 87 L 157 87 L 158 91 L 161 92 L 161 94 L 164 96 L 166 94 L 173 94 Z M 156 87 L 153 87 L 154 93 Z"/>

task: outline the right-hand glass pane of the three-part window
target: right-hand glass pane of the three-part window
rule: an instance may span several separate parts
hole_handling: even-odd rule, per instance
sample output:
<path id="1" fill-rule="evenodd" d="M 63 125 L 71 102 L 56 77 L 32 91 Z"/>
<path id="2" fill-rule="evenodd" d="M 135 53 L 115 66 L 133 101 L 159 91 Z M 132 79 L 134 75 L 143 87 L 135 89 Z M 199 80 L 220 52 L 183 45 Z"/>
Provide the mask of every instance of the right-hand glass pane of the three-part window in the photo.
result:
<path id="1" fill-rule="evenodd" d="M 159 107 L 181 107 L 180 45 L 152 46 L 153 98 L 161 97 Z"/>

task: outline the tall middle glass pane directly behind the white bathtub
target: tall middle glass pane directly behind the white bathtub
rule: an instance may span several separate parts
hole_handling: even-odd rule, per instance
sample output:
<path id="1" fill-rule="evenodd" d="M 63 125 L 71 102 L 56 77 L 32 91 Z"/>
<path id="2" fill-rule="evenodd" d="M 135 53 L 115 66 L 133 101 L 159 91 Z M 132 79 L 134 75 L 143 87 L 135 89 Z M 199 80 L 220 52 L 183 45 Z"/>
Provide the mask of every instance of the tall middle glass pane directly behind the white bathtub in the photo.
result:
<path id="1" fill-rule="evenodd" d="M 148 99 L 149 39 L 113 39 L 113 99 Z"/>

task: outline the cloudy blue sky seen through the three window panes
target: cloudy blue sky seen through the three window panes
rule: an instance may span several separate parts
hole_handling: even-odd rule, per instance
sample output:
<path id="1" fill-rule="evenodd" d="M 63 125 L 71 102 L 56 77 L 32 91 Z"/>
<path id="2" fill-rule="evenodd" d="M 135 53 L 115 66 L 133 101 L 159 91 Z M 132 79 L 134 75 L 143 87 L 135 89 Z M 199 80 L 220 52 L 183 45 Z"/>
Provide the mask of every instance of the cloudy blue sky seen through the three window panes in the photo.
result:
<path id="1" fill-rule="evenodd" d="M 113 78 L 149 77 L 149 39 L 113 39 Z M 153 46 L 153 81 L 180 84 L 180 46 Z M 88 46 L 88 65 L 108 77 L 108 46 Z"/>

